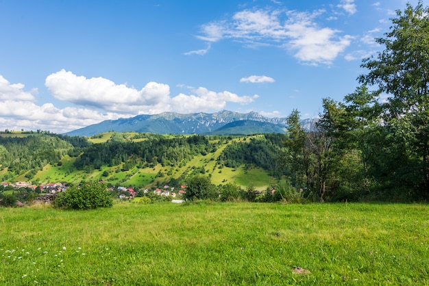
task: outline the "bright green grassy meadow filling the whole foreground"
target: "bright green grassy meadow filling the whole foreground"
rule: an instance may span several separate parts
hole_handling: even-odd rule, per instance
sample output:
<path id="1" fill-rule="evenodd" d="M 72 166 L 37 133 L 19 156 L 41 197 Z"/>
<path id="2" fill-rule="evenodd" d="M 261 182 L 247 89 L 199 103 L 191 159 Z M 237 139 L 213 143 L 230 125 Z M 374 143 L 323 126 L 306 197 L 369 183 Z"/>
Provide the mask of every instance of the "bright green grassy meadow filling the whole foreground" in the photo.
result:
<path id="1" fill-rule="evenodd" d="M 428 213 L 363 203 L 0 208 L 0 284 L 429 285 Z"/>

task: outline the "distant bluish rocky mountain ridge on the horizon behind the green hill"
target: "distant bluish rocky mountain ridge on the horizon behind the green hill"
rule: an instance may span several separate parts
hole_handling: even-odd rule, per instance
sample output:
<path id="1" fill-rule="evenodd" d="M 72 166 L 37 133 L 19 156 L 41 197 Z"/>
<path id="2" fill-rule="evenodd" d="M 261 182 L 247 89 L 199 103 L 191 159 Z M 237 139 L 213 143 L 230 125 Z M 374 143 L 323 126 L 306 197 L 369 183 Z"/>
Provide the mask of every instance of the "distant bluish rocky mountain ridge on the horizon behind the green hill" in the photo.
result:
<path id="1" fill-rule="evenodd" d="M 235 125 L 228 125 L 236 122 Z M 228 125 L 228 126 L 226 126 Z M 284 133 L 286 118 L 267 118 L 257 112 L 246 114 L 223 110 L 212 114 L 199 112 L 178 114 L 142 114 L 132 118 L 105 120 L 95 125 L 67 132 L 71 136 L 92 136 L 98 133 L 139 132 L 158 134 L 249 134 L 249 133 Z"/>

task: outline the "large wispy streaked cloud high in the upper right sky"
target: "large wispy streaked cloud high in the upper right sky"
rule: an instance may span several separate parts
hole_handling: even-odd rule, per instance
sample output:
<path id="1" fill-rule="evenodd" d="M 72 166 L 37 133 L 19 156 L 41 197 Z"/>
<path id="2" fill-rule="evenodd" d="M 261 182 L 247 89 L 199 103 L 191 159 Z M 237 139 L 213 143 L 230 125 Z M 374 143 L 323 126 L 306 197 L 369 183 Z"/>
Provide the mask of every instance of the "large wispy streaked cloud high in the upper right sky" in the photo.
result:
<path id="1" fill-rule="evenodd" d="M 352 8 L 356 9 L 350 0 L 341 5 L 350 13 Z M 203 25 L 197 38 L 207 42 L 229 39 L 245 47 L 271 45 L 295 51 L 295 57 L 306 64 L 330 64 L 350 45 L 351 37 L 339 36 L 340 31 L 330 27 L 320 27 L 315 19 L 324 12 L 243 10 L 228 20 Z"/>

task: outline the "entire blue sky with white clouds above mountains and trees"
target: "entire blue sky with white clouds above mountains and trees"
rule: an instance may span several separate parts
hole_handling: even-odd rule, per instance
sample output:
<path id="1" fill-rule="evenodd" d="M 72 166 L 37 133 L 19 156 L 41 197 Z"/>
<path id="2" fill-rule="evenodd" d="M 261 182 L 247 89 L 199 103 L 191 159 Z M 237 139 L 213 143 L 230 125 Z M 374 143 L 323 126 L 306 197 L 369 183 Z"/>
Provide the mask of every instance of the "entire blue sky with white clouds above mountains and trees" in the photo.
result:
<path id="1" fill-rule="evenodd" d="M 315 117 L 354 92 L 407 2 L 0 0 L 0 130 L 223 109 Z"/>

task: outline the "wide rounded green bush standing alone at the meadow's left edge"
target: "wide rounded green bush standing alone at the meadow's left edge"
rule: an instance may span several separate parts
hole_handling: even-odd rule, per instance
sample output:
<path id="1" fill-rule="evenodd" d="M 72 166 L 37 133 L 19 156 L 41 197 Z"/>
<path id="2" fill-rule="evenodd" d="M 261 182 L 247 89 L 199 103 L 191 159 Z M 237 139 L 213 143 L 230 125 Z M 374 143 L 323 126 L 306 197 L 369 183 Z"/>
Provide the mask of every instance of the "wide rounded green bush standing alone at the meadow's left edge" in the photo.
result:
<path id="1" fill-rule="evenodd" d="M 69 187 L 56 198 L 54 203 L 56 207 L 66 209 L 97 209 L 112 207 L 113 199 L 107 190 L 106 183 L 92 181 Z"/>

